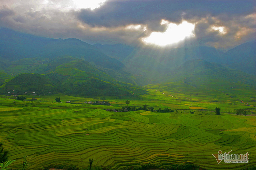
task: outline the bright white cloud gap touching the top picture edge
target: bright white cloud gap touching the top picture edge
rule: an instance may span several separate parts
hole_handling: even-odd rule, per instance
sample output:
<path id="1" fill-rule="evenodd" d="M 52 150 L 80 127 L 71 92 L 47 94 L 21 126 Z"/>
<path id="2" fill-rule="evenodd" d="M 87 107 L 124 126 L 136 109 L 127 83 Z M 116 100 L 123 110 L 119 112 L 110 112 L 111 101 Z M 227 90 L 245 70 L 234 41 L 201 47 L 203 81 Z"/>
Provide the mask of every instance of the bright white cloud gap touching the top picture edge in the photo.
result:
<path id="1" fill-rule="evenodd" d="M 107 0 L 73 0 L 77 9 L 90 8 L 94 10 L 103 5 Z"/>

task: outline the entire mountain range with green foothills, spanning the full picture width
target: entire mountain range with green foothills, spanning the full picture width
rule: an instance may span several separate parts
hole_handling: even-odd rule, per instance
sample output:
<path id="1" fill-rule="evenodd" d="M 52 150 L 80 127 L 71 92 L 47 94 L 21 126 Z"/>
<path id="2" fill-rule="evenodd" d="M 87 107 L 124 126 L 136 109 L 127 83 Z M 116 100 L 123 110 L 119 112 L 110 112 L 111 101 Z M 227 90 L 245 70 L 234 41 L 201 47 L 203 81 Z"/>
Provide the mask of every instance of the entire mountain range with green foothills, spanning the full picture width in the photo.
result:
<path id="1" fill-rule="evenodd" d="M 251 75 L 256 74 L 255 42 L 223 53 L 202 46 L 90 45 L 77 39 L 50 39 L 1 28 L 0 91 L 120 96 L 146 93 L 138 85 L 148 84 L 194 93 L 200 89 L 250 91 L 256 84 Z"/>

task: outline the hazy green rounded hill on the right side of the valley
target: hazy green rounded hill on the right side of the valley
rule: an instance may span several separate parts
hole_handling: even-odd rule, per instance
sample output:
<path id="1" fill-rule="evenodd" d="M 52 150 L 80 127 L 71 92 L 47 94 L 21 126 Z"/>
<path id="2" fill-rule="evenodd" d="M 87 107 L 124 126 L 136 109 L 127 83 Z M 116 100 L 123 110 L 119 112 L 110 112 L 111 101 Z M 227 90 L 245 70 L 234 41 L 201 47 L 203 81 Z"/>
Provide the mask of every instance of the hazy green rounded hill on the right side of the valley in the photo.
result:
<path id="1" fill-rule="evenodd" d="M 212 98 L 221 93 L 229 97 L 243 96 L 256 88 L 255 76 L 201 59 L 185 62 L 166 74 L 161 81 L 148 87 L 190 95 L 201 93 L 212 95 Z"/>

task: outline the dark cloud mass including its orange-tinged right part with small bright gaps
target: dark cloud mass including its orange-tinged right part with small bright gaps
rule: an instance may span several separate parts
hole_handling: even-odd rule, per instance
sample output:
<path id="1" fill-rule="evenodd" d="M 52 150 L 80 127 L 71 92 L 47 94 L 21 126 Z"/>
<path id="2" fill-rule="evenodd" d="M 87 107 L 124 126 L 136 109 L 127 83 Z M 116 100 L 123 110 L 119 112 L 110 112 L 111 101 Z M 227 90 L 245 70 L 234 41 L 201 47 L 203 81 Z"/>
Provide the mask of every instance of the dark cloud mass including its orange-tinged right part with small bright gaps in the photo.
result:
<path id="1" fill-rule="evenodd" d="M 230 48 L 256 38 L 254 0 L 109 0 L 95 10 L 76 12 L 78 19 L 91 27 L 117 28 L 127 25 L 144 25 L 147 31 L 165 32 L 168 28 L 161 20 L 180 24 L 195 24 L 199 45 Z M 250 35 L 250 36 L 248 36 Z"/>

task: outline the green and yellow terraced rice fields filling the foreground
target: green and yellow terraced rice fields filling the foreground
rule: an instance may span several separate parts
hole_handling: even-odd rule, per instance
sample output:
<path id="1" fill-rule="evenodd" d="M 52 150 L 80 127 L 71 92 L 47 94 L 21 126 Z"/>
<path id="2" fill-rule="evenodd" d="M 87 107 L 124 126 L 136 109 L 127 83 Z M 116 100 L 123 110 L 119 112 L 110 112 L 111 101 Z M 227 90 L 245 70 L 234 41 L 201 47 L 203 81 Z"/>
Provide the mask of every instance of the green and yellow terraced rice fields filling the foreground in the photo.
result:
<path id="1" fill-rule="evenodd" d="M 230 114 L 108 112 L 86 105 L 1 100 L 0 141 L 21 168 L 69 164 L 111 169 L 193 162 L 207 169 L 256 164 L 256 118 Z M 249 153 L 249 163 L 217 163 L 214 153 Z"/>

